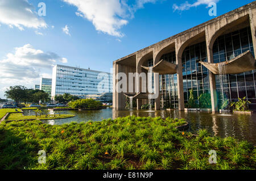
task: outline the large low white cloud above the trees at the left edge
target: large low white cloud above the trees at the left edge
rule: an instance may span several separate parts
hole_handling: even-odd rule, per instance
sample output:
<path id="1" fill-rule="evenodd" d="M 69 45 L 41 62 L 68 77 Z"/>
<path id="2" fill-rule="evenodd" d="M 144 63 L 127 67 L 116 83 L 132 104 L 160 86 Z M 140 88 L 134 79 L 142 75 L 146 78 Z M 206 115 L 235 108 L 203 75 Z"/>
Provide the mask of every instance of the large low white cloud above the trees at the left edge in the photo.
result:
<path id="1" fill-rule="evenodd" d="M 0 60 L 0 83 L 31 82 L 40 77 L 42 69 L 51 70 L 57 61 L 63 60 L 67 62 L 56 53 L 34 49 L 30 44 L 15 48 L 14 53 L 8 53 Z"/>

